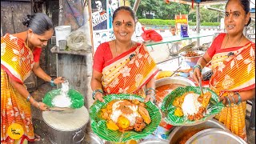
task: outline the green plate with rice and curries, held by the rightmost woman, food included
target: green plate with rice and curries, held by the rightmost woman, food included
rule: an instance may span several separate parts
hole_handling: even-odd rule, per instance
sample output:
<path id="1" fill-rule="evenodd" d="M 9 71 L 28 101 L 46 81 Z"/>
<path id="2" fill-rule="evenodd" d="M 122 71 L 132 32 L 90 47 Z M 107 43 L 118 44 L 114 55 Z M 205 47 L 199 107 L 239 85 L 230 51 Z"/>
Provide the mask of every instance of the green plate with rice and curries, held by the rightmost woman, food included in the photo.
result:
<path id="1" fill-rule="evenodd" d="M 218 102 L 218 95 L 209 88 L 198 86 L 178 87 L 162 101 L 161 110 L 165 115 L 164 121 L 173 126 L 198 125 L 214 118 L 224 105 Z"/>

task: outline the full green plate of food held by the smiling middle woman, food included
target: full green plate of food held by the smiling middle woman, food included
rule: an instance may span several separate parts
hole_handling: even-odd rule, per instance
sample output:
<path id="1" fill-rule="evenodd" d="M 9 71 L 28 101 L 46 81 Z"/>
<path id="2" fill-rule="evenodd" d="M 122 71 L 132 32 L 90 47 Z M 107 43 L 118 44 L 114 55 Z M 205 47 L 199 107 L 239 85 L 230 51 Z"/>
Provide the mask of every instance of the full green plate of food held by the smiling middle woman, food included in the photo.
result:
<path id="1" fill-rule="evenodd" d="M 104 102 L 96 101 L 90 106 L 90 123 L 94 134 L 106 141 L 127 142 L 130 139 L 142 139 L 159 126 L 160 110 L 153 102 L 145 103 L 141 96 L 108 94 L 103 99 Z M 103 111 L 107 114 L 103 114 Z M 122 111 L 129 111 L 129 114 L 123 114 Z"/>

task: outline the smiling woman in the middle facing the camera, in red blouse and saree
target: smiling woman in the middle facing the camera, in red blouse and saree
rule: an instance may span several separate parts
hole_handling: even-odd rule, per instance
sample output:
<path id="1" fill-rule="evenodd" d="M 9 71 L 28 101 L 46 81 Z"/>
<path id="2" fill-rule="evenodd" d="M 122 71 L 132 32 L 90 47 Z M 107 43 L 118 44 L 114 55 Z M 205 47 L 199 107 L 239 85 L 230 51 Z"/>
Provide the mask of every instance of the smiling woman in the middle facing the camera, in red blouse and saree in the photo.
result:
<path id="1" fill-rule="evenodd" d="M 94 55 L 91 88 L 95 100 L 102 102 L 103 94 L 138 94 L 146 102 L 154 99 L 154 75 L 158 68 L 146 46 L 131 40 L 134 23 L 130 7 L 120 6 L 114 11 L 116 39 L 102 43 Z"/>

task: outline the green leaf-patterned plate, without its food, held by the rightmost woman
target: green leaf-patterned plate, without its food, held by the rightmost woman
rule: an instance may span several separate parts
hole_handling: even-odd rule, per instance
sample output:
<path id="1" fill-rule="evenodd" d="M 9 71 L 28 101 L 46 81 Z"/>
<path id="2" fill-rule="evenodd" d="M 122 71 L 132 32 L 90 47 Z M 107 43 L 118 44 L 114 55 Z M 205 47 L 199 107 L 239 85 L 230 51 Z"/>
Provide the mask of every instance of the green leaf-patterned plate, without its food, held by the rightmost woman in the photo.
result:
<path id="1" fill-rule="evenodd" d="M 186 86 L 186 87 L 178 87 L 177 89 L 173 90 L 170 94 L 166 95 L 166 97 L 162 101 L 162 106 L 161 106 L 161 110 L 163 114 L 165 114 L 164 121 L 166 123 L 173 126 L 198 125 L 210 118 L 214 118 L 214 115 L 218 114 L 224 107 L 222 102 L 218 102 L 218 95 L 215 94 L 213 90 L 210 90 L 209 88 L 204 87 L 203 88 L 204 93 L 206 93 L 206 91 L 210 91 L 210 93 L 212 94 L 210 98 L 209 106 L 207 107 L 207 110 L 209 110 L 209 113 L 206 114 L 204 118 L 197 121 L 190 121 L 189 119 L 186 118 L 186 116 L 183 116 L 183 117 L 175 116 L 174 110 L 176 109 L 176 107 L 173 106 L 174 99 L 190 91 L 194 91 L 195 94 L 201 94 L 199 87 Z"/>

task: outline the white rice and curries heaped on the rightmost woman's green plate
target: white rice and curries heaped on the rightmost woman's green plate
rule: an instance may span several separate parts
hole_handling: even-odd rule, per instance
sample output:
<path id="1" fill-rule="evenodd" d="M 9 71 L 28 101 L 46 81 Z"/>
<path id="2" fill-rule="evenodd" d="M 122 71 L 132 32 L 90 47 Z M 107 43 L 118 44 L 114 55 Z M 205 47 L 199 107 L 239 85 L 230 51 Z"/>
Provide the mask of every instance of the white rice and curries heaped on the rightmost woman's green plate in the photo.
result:
<path id="1" fill-rule="evenodd" d="M 190 121 L 204 118 L 210 98 L 210 92 L 206 92 L 203 95 L 187 92 L 174 99 L 173 106 L 176 107 L 174 115 L 178 117 L 185 115 Z"/>

